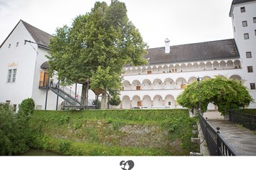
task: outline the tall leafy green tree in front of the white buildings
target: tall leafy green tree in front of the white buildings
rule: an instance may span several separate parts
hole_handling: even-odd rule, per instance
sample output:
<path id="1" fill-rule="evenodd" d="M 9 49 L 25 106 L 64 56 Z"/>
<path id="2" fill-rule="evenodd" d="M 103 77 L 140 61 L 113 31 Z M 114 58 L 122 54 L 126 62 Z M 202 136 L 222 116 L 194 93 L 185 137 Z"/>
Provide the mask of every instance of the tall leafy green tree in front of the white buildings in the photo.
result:
<path id="1" fill-rule="evenodd" d="M 56 70 L 62 82 L 81 83 L 82 97 L 89 79 L 92 90 L 102 91 L 102 108 L 106 108 L 107 92 L 118 95 L 123 66 L 146 64 L 142 56 L 147 45 L 129 21 L 125 4 L 117 0 L 110 6 L 96 2 L 71 27 L 57 29 L 49 47 L 51 72 Z"/>

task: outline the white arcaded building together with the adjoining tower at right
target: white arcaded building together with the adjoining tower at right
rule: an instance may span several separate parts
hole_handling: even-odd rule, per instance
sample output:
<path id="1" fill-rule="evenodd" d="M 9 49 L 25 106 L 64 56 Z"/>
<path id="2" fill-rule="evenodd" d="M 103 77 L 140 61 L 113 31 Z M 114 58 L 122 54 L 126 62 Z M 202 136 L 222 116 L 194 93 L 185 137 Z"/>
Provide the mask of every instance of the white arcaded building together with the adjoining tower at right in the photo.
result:
<path id="1" fill-rule="evenodd" d="M 175 100 L 185 85 L 215 75 L 242 80 L 256 101 L 256 1 L 234 0 L 229 15 L 234 39 L 171 47 L 166 39 L 165 47 L 149 49 L 149 65 L 125 67 L 119 107 L 180 108 Z"/>

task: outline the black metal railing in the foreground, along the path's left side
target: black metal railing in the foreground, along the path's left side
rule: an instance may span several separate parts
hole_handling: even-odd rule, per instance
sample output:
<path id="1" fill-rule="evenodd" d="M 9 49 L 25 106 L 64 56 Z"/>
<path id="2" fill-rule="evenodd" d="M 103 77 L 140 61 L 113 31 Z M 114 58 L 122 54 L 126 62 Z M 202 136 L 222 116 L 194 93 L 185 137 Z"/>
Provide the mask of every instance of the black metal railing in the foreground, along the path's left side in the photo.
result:
<path id="1" fill-rule="evenodd" d="M 237 156 L 236 151 L 219 133 L 220 128 L 215 131 L 213 126 L 201 114 L 199 114 L 199 123 L 211 156 Z"/>

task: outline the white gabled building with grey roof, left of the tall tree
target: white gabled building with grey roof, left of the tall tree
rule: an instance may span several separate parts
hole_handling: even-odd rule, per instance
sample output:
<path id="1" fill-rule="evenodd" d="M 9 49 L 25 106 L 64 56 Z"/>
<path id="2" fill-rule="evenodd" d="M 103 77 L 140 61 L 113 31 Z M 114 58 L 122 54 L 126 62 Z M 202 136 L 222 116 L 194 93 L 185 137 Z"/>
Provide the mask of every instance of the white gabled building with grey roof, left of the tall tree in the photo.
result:
<path id="1" fill-rule="evenodd" d="M 9 100 L 16 108 L 25 98 L 33 98 L 37 109 L 44 108 L 46 90 L 39 86 L 48 76 L 41 65 L 48 60 L 50 37 L 22 20 L 14 27 L 0 47 L 0 102 Z M 56 95 L 48 93 L 48 109 L 54 108 Z"/>

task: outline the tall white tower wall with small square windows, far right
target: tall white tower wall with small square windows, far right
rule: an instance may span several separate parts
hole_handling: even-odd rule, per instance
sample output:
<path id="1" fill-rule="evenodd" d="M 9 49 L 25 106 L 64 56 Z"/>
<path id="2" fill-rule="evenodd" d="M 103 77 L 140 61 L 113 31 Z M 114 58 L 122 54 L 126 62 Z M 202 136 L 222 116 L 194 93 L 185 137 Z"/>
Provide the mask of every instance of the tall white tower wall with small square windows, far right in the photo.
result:
<path id="1" fill-rule="evenodd" d="M 245 12 L 241 12 L 241 7 L 245 8 Z M 236 4 L 231 10 L 234 39 L 242 61 L 242 78 L 248 89 L 250 89 L 250 83 L 256 83 L 256 23 L 253 22 L 254 17 L 256 17 L 256 1 Z M 247 21 L 247 27 L 242 26 L 244 21 Z M 249 39 L 244 39 L 246 33 L 249 34 Z M 252 52 L 252 58 L 247 58 L 246 52 Z M 248 72 L 247 66 L 252 66 L 253 72 Z M 256 100 L 256 90 L 250 90 L 250 94 Z M 256 103 L 250 105 L 250 108 L 256 108 Z"/>

